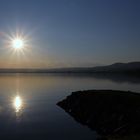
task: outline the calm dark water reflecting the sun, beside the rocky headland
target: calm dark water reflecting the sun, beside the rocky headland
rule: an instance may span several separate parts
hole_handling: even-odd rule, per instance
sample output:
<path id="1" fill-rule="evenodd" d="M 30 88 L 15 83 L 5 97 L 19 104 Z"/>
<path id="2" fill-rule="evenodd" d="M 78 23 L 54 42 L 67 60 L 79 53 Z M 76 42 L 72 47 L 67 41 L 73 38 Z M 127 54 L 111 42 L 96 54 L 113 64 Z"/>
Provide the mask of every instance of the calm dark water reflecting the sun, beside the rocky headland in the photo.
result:
<path id="1" fill-rule="evenodd" d="M 56 103 L 72 91 L 117 89 L 140 92 L 140 78 L 122 75 L 0 74 L 0 138 L 96 140 Z"/>

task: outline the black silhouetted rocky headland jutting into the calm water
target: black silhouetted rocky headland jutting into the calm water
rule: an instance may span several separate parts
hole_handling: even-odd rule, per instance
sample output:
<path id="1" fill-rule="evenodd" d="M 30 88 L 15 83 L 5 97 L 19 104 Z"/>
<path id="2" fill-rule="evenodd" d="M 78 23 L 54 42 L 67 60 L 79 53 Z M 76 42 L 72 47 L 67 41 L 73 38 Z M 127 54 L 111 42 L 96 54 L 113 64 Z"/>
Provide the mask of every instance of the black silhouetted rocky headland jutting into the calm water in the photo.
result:
<path id="1" fill-rule="evenodd" d="M 140 134 L 140 94 L 130 91 L 73 92 L 57 104 L 79 123 L 106 139 L 133 139 Z M 122 138 L 123 137 L 123 138 Z M 130 138 L 131 137 L 131 138 Z M 116 140 L 112 138 L 112 140 Z"/>

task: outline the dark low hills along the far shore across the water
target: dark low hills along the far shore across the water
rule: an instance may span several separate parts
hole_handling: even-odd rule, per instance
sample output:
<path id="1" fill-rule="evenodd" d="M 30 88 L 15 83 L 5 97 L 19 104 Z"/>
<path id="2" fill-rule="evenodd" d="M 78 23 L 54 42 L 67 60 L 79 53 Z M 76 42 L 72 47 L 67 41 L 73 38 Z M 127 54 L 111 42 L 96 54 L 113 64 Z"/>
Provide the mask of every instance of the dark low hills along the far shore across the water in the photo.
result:
<path id="1" fill-rule="evenodd" d="M 0 69 L 0 73 L 135 73 L 140 74 L 140 62 L 114 63 L 107 66 L 54 69 Z"/>

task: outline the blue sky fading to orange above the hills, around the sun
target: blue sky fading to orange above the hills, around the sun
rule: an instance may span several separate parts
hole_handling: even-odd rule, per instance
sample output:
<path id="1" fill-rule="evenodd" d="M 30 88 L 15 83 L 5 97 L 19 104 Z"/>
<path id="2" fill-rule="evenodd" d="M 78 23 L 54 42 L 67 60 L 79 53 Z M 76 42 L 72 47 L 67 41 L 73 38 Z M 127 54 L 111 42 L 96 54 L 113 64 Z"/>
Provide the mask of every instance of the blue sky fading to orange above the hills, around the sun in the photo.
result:
<path id="1" fill-rule="evenodd" d="M 26 47 L 15 51 L 20 34 Z M 0 0 L 0 68 L 140 61 L 139 0 Z"/>

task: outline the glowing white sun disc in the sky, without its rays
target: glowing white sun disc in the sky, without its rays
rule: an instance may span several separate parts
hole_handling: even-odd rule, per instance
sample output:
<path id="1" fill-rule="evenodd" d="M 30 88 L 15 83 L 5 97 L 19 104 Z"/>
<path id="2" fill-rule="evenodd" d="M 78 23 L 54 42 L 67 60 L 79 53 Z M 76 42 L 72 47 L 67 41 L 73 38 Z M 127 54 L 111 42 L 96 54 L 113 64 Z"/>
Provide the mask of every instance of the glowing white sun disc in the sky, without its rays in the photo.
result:
<path id="1" fill-rule="evenodd" d="M 15 38 L 12 40 L 12 47 L 14 49 L 22 49 L 24 47 L 24 41 L 20 38 Z"/>

